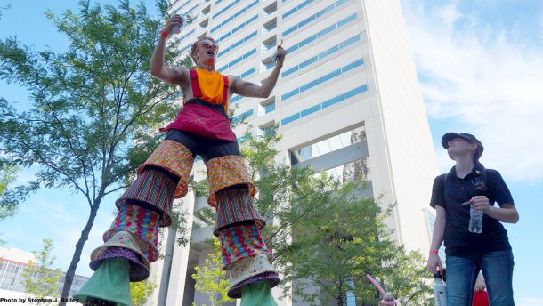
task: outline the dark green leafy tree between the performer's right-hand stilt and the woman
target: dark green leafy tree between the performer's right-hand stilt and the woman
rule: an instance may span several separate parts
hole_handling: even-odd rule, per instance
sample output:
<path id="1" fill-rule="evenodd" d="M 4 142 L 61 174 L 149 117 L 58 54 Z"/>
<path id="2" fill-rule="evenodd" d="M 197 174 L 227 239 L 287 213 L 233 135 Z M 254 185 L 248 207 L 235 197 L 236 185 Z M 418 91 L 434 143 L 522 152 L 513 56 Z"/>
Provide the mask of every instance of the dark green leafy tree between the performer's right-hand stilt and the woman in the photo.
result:
<path id="1" fill-rule="evenodd" d="M 288 254 L 280 259 L 292 294 L 312 305 L 322 294 L 327 302 L 344 305 L 351 292 L 357 303 L 375 305 L 376 288 L 365 278 L 369 273 L 401 297 L 401 305 L 424 305 L 431 291 L 422 256 L 406 254 L 390 238 L 384 220 L 392 207 L 382 210 L 372 198 L 357 197 L 363 186 L 341 184 L 326 205 L 293 224 Z"/>

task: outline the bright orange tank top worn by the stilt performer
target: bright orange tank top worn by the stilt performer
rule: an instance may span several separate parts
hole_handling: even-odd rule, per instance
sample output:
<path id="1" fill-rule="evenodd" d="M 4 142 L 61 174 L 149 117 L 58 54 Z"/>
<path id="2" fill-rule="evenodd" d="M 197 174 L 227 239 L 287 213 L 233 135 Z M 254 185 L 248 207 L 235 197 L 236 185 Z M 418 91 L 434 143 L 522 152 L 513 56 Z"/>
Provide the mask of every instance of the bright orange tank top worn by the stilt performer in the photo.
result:
<path id="1" fill-rule="evenodd" d="M 196 68 L 194 71 L 198 76 L 199 98 L 209 103 L 223 104 L 224 110 L 228 113 L 228 94 L 224 93 L 225 90 L 228 91 L 228 77 L 224 77 L 217 71 L 207 71 L 201 68 Z M 226 84 L 224 84 L 225 81 Z M 193 86 L 192 95 L 198 97 L 198 93 L 194 92 Z"/>

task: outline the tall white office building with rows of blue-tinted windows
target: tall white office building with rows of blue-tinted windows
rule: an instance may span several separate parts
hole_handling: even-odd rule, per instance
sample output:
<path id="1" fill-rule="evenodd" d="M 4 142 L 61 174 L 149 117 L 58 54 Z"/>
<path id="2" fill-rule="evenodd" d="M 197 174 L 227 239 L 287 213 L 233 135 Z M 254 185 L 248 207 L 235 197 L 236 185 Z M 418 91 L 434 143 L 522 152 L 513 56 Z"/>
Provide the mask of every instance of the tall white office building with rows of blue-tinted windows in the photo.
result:
<path id="1" fill-rule="evenodd" d="M 171 39 L 180 39 L 184 54 L 198 37 L 214 37 L 220 45 L 216 68 L 223 74 L 260 84 L 283 42 L 288 54 L 271 96 L 233 96 L 236 117 L 247 117 L 255 135 L 279 125 L 279 161 L 312 165 L 343 180 L 368 180 L 369 196 L 381 197 L 382 205 L 395 204 L 387 220 L 393 238 L 408 250 L 427 253 L 425 208 L 437 169 L 399 0 L 177 0 L 171 5 L 194 20 Z M 235 132 L 245 129 L 241 125 Z M 190 278 L 209 252 L 203 242 L 212 229 L 192 218 L 206 199 L 189 194 L 183 203 L 193 225 L 191 241 L 174 249 L 166 305 L 206 301 Z M 157 280 L 162 268 L 162 261 L 153 266 Z M 157 295 L 158 290 L 153 300 Z"/>

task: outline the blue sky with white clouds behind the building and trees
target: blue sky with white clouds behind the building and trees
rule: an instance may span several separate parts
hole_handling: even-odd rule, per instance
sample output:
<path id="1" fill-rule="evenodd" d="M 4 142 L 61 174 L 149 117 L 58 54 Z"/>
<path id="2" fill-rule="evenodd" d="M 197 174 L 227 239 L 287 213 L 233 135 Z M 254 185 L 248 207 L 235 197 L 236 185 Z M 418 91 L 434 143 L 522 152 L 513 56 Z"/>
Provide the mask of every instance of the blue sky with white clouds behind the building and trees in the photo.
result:
<path id="1" fill-rule="evenodd" d="M 77 1 L 0 0 L 0 7 L 10 3 L 0 19 L 0 39 L 17 36 L 37 50 L 66 50 L 65 37 L 43 12 L 76 11 Z M 153 10 L 153 1 L 145 3 Z M 520 214 L 517 224 L 506 225 L 515 254 L 516 304 L 543 306 L 543 1 L 401 0 L 401 5 L 440 172 L 452 166 L 442 134 L 473 133 L 482 141 L 482 164 L 502 174 Z M 4 81 L 0 96 L 21 106 L 27 101 L 24 89 Z M 18 181 L 31 175 L 25 171 Z M 89 255 L 109 228 L 115 199 L 102 202 L 77 274 L 91 274 Z M 66 270 L 87 216 L 83 197 L 41 190 L 0 223 L 0 238 L 26 251 L 53 238 L 55 265 Z"/>

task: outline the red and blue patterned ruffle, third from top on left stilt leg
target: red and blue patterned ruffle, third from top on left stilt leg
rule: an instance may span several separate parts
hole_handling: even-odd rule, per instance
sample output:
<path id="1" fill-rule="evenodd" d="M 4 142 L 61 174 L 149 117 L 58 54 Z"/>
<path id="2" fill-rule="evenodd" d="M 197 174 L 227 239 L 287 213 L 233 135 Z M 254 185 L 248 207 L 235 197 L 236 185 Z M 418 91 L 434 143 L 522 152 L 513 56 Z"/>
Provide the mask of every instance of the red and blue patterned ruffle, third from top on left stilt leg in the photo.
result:
<path id="1" fill-rule="evenodd" d="M 150 262 L 158 259 L 158 213 L 138 205 L 120 205 L 111 227 L 103 234 L 104 241 L 109 241 L 119 231 L 133 234 L 138 246 Z"/>

